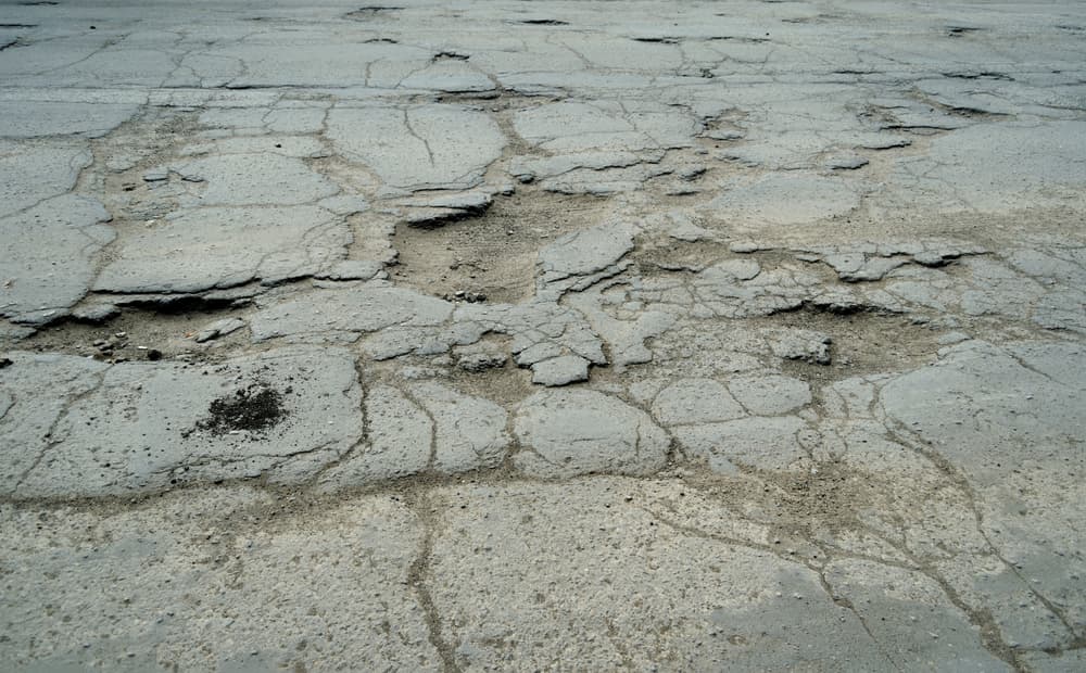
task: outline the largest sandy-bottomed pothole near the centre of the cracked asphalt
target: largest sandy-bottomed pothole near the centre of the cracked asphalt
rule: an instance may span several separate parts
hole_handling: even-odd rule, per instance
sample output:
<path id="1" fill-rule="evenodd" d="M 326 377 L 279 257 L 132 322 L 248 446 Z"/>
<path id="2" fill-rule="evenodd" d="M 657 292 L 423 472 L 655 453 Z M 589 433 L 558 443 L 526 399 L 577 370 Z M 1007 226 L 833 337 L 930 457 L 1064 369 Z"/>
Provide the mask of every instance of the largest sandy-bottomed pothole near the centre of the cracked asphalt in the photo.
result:
<path id="1" fill-rule="evenodd" d="M 500 196 L 485 213 L 442 227 L 399 225 L 392 245 L 400 265 L 392 275 L 435 296 L 522 302 L 534 294 L 536 253 L 599 224 L 608 209 L 606 200 L 530 191 Z"/>

